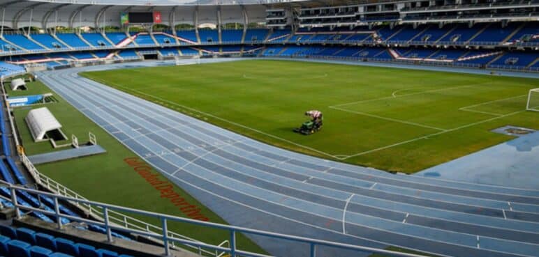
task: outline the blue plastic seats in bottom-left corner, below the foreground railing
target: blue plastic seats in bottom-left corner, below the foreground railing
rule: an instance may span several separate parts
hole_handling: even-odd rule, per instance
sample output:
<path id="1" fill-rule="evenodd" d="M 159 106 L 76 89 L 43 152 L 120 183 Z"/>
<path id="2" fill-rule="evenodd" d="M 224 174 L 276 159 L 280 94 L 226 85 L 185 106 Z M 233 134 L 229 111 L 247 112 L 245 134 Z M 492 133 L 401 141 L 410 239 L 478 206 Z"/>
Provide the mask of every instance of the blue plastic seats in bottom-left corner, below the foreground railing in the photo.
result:
<path id="1" fill-rule="evenodd" d="M 0 226 L 0 254 L 20 257 L 131 257 L 108 249 L 96 249 L 29 228 Z"/>

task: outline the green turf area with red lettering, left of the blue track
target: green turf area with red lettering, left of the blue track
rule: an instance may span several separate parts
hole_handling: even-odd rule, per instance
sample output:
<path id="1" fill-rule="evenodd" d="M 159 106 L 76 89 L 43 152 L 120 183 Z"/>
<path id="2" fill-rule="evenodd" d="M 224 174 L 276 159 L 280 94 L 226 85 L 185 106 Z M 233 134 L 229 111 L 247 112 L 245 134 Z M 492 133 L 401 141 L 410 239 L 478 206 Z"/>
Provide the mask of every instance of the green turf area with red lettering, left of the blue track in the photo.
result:
<path id="1" fill-rule="evenodd" d="M 27 85 L 27 91 L 11 91 L 8 84 L 5 85 L 5 88 L 10 96 L 54 93 L 40 81 L 31 82 Z M 79 138 L 79 142 L 84 143 L 88 140 L 88 132 L 92 132 L 96 135 L 98 144 L 105 148 L 107 153 L 53 162 L 50 164 L 41 164 L 36 166 L 41 173 L 44 173 L 50 178 L 60 182 L 62 185 L 73 189 L 75 192 L 93 201 L 101 201 L 103 203 L 111 203 L 128 208 L 137 208 L 140 210 L 185 217 L 184 213 L 181 212 L 179 208 L 172 205 L 167 199 L 161 198 L 160 193 L 156 191 L 154 187 L 149 185 L 144 178 L 133 171 L 133 167 L 128 166 L 128 164 L 124 162 L 124 159 L 127 157 L 136 157 L 135 153 L 124 147 L 119 141 L 86 118 L 86 116 L 77 111 L 77 109 L 72 107 L 71 104 L 66 102 L 59 95 L 54 93 L 54 96 L 59 102 L 36 104 L 29 107 L 15 107 L 13 109 L 17 130 L 27 155 L 47 153 L 53 150 L 52 145 L 49 142 L 34 143 L 29 129 L 24 122 L 24 117 L 27 116 L 28 111 L 44 106 L 49 108 L 52 114 L 54 114 L 57 120 L 63 125 L 62 130 L 68 137 L 71 138 L 71 134 L 75 134 L 75 136 Z M 66 148 L 57 150 L 64 149 Z M 159 174 L 156 170 L 152 170 L 152 173 Z M 165 181 L 168 179 L 159 175 L 158 180 Z M 174 187 L 174 191 L 185 198 L 187 202 L 200 207 L 202 209 L 201 213 L 205 215 L 205 217 L 208 217 L 209 221 L 226 224 L 226 221 L 221 219 L 221 217 L 217 216 L 181 188 Z M 148 219 L 145 217 L 136 218 L 147 221 L 150 224 L 161 225 L 161 221 L 157 219 Z M 218 231 L 211 228 L 191 226 L 176 222 L 170 222 L 168 228 L 170 231 L 213 244 L 219 244 L 223 242 L 223 240 L 228 240 L 229 238 L 229 234 L 226 231 Z M 240 249 L 265 253 L 263 249 L 258 247 L 258 245 L 254 244 L 244 235 L 238 235 L 237 240 L 239 241 Z"/>

